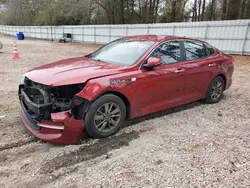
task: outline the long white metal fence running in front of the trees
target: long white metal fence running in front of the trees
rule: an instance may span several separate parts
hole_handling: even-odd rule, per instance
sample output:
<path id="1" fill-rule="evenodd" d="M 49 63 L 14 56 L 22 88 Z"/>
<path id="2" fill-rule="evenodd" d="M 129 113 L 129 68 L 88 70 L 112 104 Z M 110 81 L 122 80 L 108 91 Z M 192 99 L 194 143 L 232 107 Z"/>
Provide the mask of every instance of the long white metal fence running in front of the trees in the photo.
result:
<path id="1" fill-rule="evenodd" d="M 250 20 L 89 26 L 0 25 L 0 33 L 16 36 L 18 32 L 47 40 L 58 40 L 63 33 L 71 33 L 74 42 L 99 44 L 130 35 L 176 35 L 205 40 L 227 53 L 250 55 Z"/>

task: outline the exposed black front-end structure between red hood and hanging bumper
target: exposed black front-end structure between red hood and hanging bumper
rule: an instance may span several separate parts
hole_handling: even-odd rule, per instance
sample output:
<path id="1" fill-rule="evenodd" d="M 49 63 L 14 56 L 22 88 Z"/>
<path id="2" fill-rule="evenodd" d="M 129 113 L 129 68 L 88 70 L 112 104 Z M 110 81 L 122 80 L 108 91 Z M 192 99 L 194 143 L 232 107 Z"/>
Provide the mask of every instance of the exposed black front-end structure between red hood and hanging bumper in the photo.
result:
<path id="1" fill-rule="evenodd" d="M 35 122 L 51 120 L 51 113 L 68 111 L 75 107 L 75 94 L 83 87 L 84 84 L 50 87 L 26 77 L 19 86 L 19 99 L 26 115 Z"/>

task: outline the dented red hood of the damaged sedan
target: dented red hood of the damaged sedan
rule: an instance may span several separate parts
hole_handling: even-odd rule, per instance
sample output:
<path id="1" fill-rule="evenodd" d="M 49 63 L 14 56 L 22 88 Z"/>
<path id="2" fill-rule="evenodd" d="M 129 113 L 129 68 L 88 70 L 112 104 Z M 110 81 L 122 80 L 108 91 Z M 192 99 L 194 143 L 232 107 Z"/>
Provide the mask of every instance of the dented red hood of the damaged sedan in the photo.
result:
<path id="1" fill-rule="evenodd" d="M 84 83 L 92 78 L 122 72 L 126 67 L 87 57 L 65 59 L 36 67 L 25 73 L 33 82 L 49 86 Z"/>

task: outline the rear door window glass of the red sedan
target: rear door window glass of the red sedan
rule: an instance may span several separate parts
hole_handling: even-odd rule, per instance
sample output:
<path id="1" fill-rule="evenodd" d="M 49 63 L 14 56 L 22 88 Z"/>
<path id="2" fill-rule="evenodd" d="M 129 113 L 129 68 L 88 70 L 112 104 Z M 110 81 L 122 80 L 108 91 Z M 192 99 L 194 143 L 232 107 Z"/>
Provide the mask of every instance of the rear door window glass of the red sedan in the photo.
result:
<path id="1" fill-rule="evenodd" d="M 195 60 L 207 57 L 207 50 L 203 43 L 196 41 L 185 41 L 184 48 L 187 60 Z"/>

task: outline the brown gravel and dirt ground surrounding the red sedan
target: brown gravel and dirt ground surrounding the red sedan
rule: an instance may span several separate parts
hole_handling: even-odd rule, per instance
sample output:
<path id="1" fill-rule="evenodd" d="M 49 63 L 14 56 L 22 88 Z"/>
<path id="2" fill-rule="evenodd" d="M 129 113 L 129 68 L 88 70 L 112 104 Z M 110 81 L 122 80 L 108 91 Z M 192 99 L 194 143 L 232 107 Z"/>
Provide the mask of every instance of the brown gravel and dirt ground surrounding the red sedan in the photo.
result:
<path id="1" fill-rule="evenodd" d="M 250 187 L 250 57 L 235 57 L 233 85 L 214 105 L 195 102 L 127 122 L 81 145 L 41 142 L 19 119 L 18 84 L 37 65 L 98 45 L 0 35 L 0 187 Z"/>

